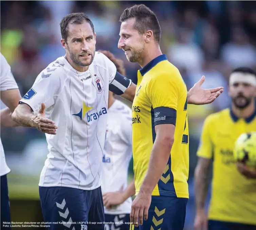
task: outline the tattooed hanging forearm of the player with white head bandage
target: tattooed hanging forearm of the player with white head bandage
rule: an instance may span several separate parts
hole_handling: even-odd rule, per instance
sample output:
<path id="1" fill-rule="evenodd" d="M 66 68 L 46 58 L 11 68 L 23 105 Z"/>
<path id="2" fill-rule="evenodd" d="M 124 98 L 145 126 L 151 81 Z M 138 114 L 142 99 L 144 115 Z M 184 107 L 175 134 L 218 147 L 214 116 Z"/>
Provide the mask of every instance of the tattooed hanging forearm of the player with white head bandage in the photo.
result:
<path id="1" fill-rule="evenodd" d="M 196 209 L 204 209 L 209 185 L 209 167 L 197 166 L 195 170 Z"/>

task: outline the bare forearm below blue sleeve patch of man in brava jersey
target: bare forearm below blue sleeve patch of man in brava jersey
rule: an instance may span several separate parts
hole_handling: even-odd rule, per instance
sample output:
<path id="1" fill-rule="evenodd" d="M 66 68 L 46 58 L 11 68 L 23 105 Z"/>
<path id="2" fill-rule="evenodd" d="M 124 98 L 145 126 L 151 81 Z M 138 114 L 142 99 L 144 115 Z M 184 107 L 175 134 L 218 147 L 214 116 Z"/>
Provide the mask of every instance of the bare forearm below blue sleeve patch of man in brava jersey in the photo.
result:
<path id="1" fill-rule="evenodd" d="M 24 104 L 20 104 L 12 114 L 12 119 L 20 126 L 36 128 L 35 115 Z"/>

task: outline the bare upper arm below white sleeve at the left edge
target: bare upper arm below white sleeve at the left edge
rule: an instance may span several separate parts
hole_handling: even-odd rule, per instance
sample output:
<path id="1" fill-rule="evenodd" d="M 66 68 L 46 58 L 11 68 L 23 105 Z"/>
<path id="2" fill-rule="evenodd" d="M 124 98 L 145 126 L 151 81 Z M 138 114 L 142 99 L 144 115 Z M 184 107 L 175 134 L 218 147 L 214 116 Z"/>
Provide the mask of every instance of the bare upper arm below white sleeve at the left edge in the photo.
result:
<path id="1" fill-rule="evenodd" d="M 19 89 L 1 91 L 1 100 L 13 112 L 21 99 Z"/>

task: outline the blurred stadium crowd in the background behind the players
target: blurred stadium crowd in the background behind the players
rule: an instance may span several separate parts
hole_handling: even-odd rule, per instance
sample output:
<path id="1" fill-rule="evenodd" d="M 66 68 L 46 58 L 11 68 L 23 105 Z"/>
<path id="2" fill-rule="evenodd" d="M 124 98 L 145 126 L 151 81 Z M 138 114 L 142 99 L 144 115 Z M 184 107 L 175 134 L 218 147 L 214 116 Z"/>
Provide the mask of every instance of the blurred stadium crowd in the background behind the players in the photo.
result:
<path id="1" fill-rule="evenodd" d="M 225 89 L 212 104 L 188 107 L 189 179 L 193 180 L 204 118 L 230 106 L 228 76 L 232 69 L 256 68 L 255 1 L 1 1 L 1 53 L 23 96 L 50 62 L 65 55 L 60 43 L 61 18 L 85 12 L 97 34 L 96 50 L 109 50 L 124 60 L 127 77 L 136 83 L 140 66 L 129 63 L 117 43 L 120 15 L 126 7 L 141 3 L 156 13 L 162 28 L 161 50 L 180 70 L 188 90 L 202 75 L 206 77 L 204 88 Z M 37 130 L 1 127 L 7 159 L 8 153 L 19 154 L 38 138 L 44 134 Z M 193 190 L 190 194 L 193 198 Z"/>

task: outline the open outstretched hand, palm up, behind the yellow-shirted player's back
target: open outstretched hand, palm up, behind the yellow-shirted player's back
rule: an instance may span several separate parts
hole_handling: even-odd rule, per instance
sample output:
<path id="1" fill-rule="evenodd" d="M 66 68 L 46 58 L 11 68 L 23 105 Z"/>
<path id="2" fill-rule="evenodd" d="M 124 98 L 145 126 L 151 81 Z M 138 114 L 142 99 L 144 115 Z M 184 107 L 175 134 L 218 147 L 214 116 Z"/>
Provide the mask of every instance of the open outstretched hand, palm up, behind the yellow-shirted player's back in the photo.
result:
<path id="1" fill-rule="evenodd" d="M 194 84 L 187 94 L 188 104 L 209 104 L 212 103 L 222 92 L 223 87 L 217 87 L 214 89 L 203 89 L 201 85 L 204 83 L 205 76 Z"/>

